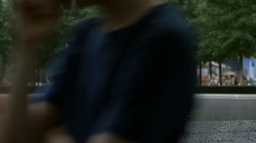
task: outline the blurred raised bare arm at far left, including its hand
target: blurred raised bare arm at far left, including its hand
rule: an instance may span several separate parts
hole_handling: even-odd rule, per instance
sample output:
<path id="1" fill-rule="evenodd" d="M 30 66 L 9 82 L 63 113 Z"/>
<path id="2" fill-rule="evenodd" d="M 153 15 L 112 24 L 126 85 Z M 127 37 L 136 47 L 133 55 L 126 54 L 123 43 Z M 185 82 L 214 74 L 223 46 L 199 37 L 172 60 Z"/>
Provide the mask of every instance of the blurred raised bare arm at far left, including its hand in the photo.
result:
<path id="1" fill-rule="evenodd" d="M 65 1 L 68 2 L 68 1 Z M 28 73 L 36 67 L 35 59 L 60 17 L 60 1 L 14 1 L 17 12 L 18 30 L 14 41 L 15 60 L 13 88 L 8 103 L 7 114 L 0 131 L 0 142 L 39 142 L 43 132 L 56 120 L 57 109 L 48 103 L 27 105 Z"/>

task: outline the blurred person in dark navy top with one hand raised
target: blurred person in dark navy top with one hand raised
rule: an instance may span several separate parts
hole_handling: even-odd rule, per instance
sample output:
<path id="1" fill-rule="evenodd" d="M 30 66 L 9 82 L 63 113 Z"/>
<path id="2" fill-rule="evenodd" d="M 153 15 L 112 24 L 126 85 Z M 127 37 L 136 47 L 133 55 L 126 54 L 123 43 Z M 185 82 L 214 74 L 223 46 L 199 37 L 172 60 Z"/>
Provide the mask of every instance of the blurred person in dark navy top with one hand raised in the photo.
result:
<path id="1" fill-rule="evenodd" d="M 16 42 L 23 48 L 1 142 L 40 142 L 61 125 L 77 143 L 177 141 L 191 109 L 195 70 L 190 32 L 167 2 L 75 1 L 106 10 L 80 24 L 51 90 L 27 105 L 27 70 L 53 33 L 60 4 L 68 2 L 16 1 Z"/>

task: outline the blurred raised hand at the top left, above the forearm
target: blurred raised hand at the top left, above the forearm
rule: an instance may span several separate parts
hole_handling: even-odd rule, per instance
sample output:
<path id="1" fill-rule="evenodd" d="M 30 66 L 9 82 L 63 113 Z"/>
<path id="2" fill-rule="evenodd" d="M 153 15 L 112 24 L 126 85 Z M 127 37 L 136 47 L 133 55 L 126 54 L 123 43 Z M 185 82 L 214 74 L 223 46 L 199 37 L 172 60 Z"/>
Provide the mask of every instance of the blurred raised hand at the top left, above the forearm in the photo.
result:
<path id="1" fill-rule="evenodd" d="M 18 41 L 25 45 L 44 42 L 59 21 L 61 5 L 69 6 L 71 0 L 14 0 Z"/>

